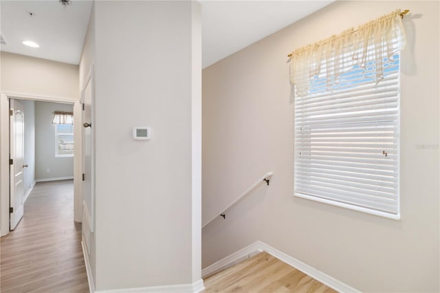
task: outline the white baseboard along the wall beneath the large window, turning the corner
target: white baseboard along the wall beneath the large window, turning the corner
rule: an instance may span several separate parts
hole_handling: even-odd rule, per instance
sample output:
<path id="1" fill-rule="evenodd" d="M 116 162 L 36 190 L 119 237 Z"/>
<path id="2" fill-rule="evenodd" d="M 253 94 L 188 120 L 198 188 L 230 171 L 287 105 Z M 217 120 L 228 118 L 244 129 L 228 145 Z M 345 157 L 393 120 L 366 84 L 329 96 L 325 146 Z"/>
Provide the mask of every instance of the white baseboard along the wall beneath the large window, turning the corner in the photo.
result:
<path id="1" fill-rule="evenodd" d="M 272 246 L 267 245 L 266 243 L 263 243 L 262 241 L 256 241 L 250 244 L 250 246 L 246 246 L 245 248 L 230 254 L 228 257 L 225 257 L 224 259 L 221 259 L 220 261 L 213 263 L 207 268 L 204 268 L 203 270 L 201 270 L 201 275 L 203 277 L 210 276 L 215 272 L 219 272 L 220 270 L 229 268 L 231 265 L 234 265 L 235 263 L 239 263 L 244 259 L 247 259 L 248 258 L 246 257 L 247 254 L 252 254 L 254 252 L 262 252 L 262 251 L 265 251 L 271 254 L 272 256 L 276 257 L 277 259 L 284 261 L 288 265 L 291 265 L 297 270 L 300 270 L 301 272 L 311 276 L 312 278 L 320 281 L 321 283 L 333 288 L 338 292 L 360 293 L 359 290 L 356 290 L 355 288 L 347 285 L 346 283 L 342 283 L 341 281 L 333 278 L 332 276 L 329 276 L 328 274 L 325 274 L 324 272 L 321 272 L 320 270 L 317 270 L 316 268 L 313 268 L 310 265 L 307 265 L 306 263 L 303 263 L 302 261 L 295 259 L 294 257 L 291 257 L 290 255 L 285 254 L 284 252 L 281 252 L 276 248 L 273 248 Z"/>

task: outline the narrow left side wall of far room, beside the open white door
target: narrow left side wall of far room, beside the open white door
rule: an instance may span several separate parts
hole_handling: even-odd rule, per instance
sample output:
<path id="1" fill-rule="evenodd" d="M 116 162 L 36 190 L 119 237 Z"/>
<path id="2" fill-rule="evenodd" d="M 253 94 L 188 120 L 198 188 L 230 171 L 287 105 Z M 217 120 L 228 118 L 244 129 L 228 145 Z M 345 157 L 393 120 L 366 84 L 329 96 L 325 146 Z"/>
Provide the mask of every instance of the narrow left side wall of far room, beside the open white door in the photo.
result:
<path id="1" fill-rule="evenodd" d="M 35 185 L 35 102 L 33 100 L 20 100 L 20 102 L 25 107 L 23 164 L 28 164 L 28 167 L 23 169 L 23 192 L 28 195 Z"/>

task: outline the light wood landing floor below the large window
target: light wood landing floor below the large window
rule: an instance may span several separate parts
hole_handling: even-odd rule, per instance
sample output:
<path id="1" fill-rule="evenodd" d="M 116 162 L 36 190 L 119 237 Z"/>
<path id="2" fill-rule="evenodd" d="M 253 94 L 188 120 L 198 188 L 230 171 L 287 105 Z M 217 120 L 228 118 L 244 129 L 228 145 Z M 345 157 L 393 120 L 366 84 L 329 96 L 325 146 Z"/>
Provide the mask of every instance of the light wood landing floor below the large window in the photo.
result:
<path id="1" fill-rule="evenodd" d="M 266 252 L 203 280 L 205 292 L 336 292 Z"/>

